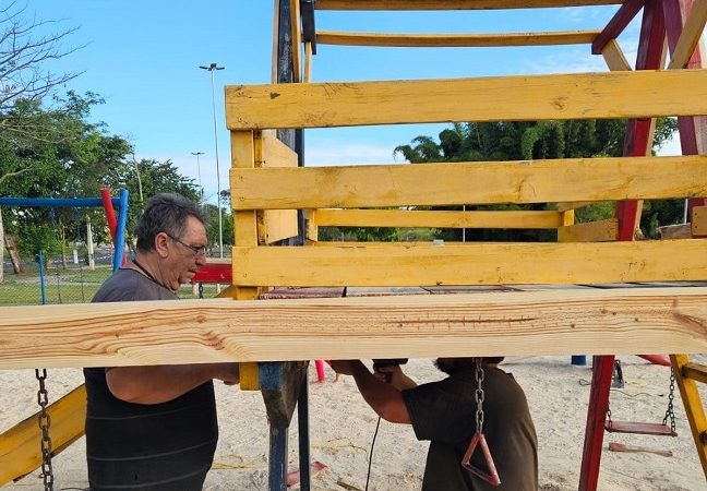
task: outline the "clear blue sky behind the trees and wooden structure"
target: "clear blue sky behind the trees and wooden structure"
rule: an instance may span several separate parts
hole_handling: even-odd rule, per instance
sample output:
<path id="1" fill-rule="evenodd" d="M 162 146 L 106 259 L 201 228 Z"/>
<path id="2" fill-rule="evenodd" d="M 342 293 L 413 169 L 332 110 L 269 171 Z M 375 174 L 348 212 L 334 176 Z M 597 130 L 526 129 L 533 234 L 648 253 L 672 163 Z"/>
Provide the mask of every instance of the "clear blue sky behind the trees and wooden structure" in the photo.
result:
<path id="1" fill-rule="evenodd" d="M 471 12 L 316 12 L 317 28 L 397 33 L 493 33 L 601 28 L 616 7 Z M 170 159 L 216 190 L 208 72 L 217 62 L 216 118 L 221 188 L 227 185 L 228 132 L 223 87 L 269 83 L 273 0 L 28 0 L 27 13 L 79 26 L 65 47 L 87 46 L 62 58 L 55 71 L 83 72 L 68 88 L 106 99 L 93 119 L 127 137 L 137 158 Z M 635 58 L 638 24 L 620 38 Z M 319 46 L 312 81 L 397 80 L 520 73 L 606 71 L 588 46 L 537 48 L 352 48 Z M 395 146 L 441 125 L 308 130 L 307 165 L 393 163 Z M 398 157 L 398 161 L 400 157 Z"/>

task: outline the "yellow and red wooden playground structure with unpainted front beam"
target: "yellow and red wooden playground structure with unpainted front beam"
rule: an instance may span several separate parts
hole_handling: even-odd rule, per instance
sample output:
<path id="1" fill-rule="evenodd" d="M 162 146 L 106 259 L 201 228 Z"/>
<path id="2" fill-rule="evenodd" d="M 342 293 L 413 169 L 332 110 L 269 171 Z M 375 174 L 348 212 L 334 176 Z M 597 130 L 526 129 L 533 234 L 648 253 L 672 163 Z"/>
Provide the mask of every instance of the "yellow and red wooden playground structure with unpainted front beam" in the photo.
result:
<path id="1" fill-rule="evenodd" d="M 586 32 L 394 35 L 315 25 L 317 10 L 614 3 L 619 7 L 609 23 Z M 616 38 L 639 12 L 642 34 L 632 67 Z M 300 489 L 310 489 L 308 362 L 301 360 L 585 352 L 595 357 L 578 489 L 588 491 L 599 482 L 604 430 L 674 434 L 672 398 L 658 431 L 607 420 L 614 368 L 614 355 L 608 351 L 670 352 L 707 478 L 707 419 L 696 387 L 696 382 L 707 382 L 707 367 L 687 355 L 672 355 L 707 352 L 707 70 L 699 45 L 706 19 L 704 0 L 276 0 L 272 84 L 226 86 L 232 260 L 209 262 L 195 278 L 228 280 L 231 286 L 220 297 L 238 301 L 180 301 L 161 312 L 125 303 L 118 315 L 101 312 L 100 306 L 71 311 L 51 306 L 46 308 L 51 324 L 37 312 L 9 308 L 0 321 L 0 368 L 239 361 L 241 388 L 261 391 L 267 410 L 268 487 L 274 491 L 286 489 L 287 432 L 296 408 Z M 610 71 L 311 82 L 313 55 L 317 46 L 329 44 L 587 44 Z M 654 119 L 663 116 L 679 119 L 682 156 L 650 155 Z M 303 132 L 309 128 L 589 118 L 627 119 L 623 157 L 304 166 Z M 669 197 L 688 199 L 690 223 L 682 236 L 634 240 L 642 200 Z M 598 201 L 615 202 L 614 218 L 575 224 L 574 211 Z M 556 211 L 416 209 L 503 203 L 556 203 Z M 319 240 L 317 228 L 327 226 L 539 228 L 555 229 L 559 240 L 443 247 Z M 613 287 L 596 288 L 607 284 Z M 442 295 L 447 292 L 455 295 Z M 168 332 L 158 331 L 166 322 L 164 309 L 179 313 L 170 316 Z M 145 333 L 159 337 L 158 344 L 145 345 L 124 328 L 137 320 Z M 77 323 L 81 330 L 58 340 L 60 325 Z M 91 345 L 103 348 L 82 345 L 88 336 L 101 339 Z M 213 336 L 219 338 L 218 349 L 200 340 Z M 193 349 L 184 350 L 185 344 Z M 468 466 L 479 448 L 488 468 L 470 471 L 489 482 L 502 481 L 503 476 L 494 476 L 481 424 L 462 465 Z"/>

